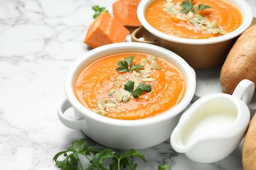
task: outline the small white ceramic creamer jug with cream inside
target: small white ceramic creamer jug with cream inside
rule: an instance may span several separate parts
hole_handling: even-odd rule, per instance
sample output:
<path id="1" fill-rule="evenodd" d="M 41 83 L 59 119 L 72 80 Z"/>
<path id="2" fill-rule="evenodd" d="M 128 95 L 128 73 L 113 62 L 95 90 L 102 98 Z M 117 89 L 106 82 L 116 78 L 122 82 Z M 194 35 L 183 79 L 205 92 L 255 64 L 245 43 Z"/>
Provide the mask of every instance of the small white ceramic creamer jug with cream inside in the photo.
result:
<path id="1" fill-rule="evenodd" d="M 247 105 L 255 84 L 242 80 L 232 95 L 206 95 L 186 110 L 171 134 L 171 146 L 200 163 L 213 163 L 231 154 L 242 141 L 250 120 Z"/>

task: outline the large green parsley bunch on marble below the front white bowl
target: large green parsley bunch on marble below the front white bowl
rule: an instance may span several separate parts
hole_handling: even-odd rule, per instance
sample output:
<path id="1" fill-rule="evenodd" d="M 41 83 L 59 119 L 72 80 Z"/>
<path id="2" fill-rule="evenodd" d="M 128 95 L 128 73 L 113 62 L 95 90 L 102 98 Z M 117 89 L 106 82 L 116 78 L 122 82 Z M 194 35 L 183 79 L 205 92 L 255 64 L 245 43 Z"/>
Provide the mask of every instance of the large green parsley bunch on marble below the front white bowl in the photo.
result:
<path id="1" fill-rule="evenodd" d="M 61 155 L 64 156 L 64 160 L 58 161 Z M 133 162 L 135 156 L 146 162 L 144 155 L 140 154 L 137 150 L 130 149 L 118 155 L 110 148 L 102 150 L 101 148 L 90 147 L 85 139 L 74 141 L 68 150 L 58 152 L 54 156 L 53 161 L 62 170 L 84 170 L 80 160 L 82 157 L 79 155 L 84 156 L 91 163 L 87 169 L 108 169 L 104 164 L 106 160 L 111 161 L 109 169 L 119 170 L 120 167 L 136 169 L 137 164 Z"/>

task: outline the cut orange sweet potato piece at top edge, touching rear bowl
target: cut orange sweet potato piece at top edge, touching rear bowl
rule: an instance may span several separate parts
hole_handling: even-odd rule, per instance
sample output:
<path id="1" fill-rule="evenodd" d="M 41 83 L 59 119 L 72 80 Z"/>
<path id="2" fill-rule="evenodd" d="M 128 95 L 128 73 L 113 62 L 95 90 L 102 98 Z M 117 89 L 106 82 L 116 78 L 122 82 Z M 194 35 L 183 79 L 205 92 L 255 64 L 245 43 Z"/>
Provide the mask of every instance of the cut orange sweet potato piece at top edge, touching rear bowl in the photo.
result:
<path id="1" fill-rule="evenodd" d="M 141 0 L 117 0 L 113 5 L 113 14 L 123 25 L 140 26 L 137 7 Z"/>

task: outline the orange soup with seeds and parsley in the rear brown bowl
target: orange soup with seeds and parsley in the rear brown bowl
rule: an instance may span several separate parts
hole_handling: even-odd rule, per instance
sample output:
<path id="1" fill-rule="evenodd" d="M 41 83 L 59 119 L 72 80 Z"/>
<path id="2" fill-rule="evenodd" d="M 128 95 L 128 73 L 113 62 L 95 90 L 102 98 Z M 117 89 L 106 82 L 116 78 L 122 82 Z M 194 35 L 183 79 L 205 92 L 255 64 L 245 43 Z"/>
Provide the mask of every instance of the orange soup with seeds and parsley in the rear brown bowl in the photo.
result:
<path id="1" fill-rule="evenodd" d="M 159 31 L 187 39 L 219 37 L 242 24 L 240 11 L 224 0 L 156 0 L 145 18 Z"/>

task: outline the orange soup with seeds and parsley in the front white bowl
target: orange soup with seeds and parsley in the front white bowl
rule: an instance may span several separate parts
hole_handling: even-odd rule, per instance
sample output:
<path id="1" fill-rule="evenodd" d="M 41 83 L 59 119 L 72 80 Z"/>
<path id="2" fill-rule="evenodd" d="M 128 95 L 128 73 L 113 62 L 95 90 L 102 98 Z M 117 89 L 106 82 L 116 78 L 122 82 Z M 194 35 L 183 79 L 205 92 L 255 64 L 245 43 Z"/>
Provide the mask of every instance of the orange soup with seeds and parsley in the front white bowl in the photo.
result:
<path id="1" fill-rule="evenodd" d="M 75 81 L 85 107 L 121 120 L 150 118 L 171 109 L 184 95 L 184 76 L 163 58 L 121 53 L 98 59 Z"/>

